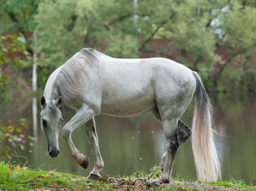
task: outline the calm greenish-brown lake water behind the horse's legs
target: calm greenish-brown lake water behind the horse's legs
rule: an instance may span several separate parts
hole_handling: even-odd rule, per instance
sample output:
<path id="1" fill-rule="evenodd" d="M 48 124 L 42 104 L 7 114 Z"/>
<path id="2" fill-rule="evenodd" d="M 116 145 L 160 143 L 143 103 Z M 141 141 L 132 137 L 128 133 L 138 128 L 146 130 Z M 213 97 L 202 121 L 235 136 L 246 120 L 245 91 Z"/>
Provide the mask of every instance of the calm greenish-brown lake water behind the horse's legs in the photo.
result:
<path id="1" fill-rule="evenodd" d="M 215 129 L 222 134 L 222 136 L 215 135 L 215 142 L 223 179 L 233 177 L 256 184 L 256 101 L 254 96 L 233 94 L 210 97 L 214 105 Z M 15 123 L 24 117 L 30 127 L 27 129 L 27 134 L 33 134 L 30 103 L 32 101 L 28 101 L 21 108 L 14 106 L 9 109 L 6 107 L 7 104 L 1 104 L 2 124 L 7 124 L 8 121 Z M 191 125 L 192 112 L 193 104 L 182 117 L 188 125 Z M 67 116 L 71 115 L 72 112 L 67 112 Z M 141 170 L 149 172 L 150 168 L 160 163 L 165 148 L 163 130 L 150 113 L 133 118 L 98 116 L 96 125 L 100 150 L 105 162 L 102 175 L 122 176 Z M 89 168 L 86 170 L 72 159 L 67 144 L 61 137 L 59 139 L 60 155 L 58 158 L 51 159 L 46 154 L 46 140 L 40 128 L 37 130 L 37 140 L 33 142 L 33 146 L 27 143 L 24 151 L 16 150 L 12 160 L 26 163 L 32 168 L 59 169 L 62 172 L 88 176 L 93 168 L 93 156 L 85 129 L 76 129 L 72 138 L 77 148 L 89 156 Z M 196 180 L 190 139 L 178 151 L 172 174 Z"/>

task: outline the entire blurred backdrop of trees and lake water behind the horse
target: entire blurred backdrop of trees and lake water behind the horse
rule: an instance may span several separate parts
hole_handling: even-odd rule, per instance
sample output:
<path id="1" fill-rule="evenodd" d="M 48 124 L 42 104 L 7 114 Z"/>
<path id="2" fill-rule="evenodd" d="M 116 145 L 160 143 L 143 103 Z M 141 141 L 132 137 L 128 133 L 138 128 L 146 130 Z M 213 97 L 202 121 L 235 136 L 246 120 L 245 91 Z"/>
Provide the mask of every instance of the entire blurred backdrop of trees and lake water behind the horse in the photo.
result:
<path id="1" fill-rule="evenodd" d="M 196 70 L 214 105 L 223 179 L 256 183 L 255 0 L 0 0 L 0 155 L 32 168 L 87 176 L 93 159 L 85 129 L 73 134 L 89 170 L 70 157 L 46 155 L 38 100 L 53 70 L 84 47 L 111 57 L 167 57 Z M 193 104 L 182 118 L 192 121 Z M 74 112 L 67 109 L 65 120 Z M 127 175 L 159 164 L 160 124 L 145 114 L 96 117 L 105 175 Z M 190 140 L 174 176 L 196 180 Z"/>

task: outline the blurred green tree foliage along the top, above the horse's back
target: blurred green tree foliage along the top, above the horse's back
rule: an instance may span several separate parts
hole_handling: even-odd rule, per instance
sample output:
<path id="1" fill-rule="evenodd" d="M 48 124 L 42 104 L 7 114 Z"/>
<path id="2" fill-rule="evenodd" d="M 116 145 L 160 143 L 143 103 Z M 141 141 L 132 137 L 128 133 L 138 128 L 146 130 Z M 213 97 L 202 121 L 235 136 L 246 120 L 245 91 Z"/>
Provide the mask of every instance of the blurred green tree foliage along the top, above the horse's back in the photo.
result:
<path id="1" fill-rule="evenodd" d="M 151 51 L 151 40 L 162 38 L 171 43 L 156 49 L 155 56 L 175 57 L 197 70 L 206 87 L 256 91 L 255 17 L 255 1 L 245 0 L 140 0 L 137 6 L 128 0 L 11 0 L 2 1 L 0 27 L 37 33 L 39 70 L 53 70 L 83 47 L 114 57 L 140 57 Z M 31 38 L 26 40 L 26 49 L 31 49 Z M 177 49 L 180 53 L 172 55 Z M 239 75 L 234 76 L 237 66 Z"/>

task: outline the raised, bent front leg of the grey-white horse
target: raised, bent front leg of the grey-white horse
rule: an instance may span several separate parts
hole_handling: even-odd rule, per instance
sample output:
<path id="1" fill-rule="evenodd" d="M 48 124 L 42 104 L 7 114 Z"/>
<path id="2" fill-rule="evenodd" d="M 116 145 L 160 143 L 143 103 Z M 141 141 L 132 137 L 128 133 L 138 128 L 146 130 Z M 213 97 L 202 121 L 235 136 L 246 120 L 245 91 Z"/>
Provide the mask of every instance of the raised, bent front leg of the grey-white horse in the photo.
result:
<path id="1" fill-rule="evenodd" d="M 83 168 L 87 168 L 89 164 L 88 157 L 81 154 L 80 151 L 76 149 L 76 146 L 72 142 L 72 132 L 79 126 L 84 125 L 85 122 L 89 121 L 95 115 L 93 108 L 90 108 L 88 105 L 83 105 L 76 114 L 72 117 L 70 121 L 63 127 L 63 138 L 69 146 L 71 155 L 76 162 L 80 164 Z"/>

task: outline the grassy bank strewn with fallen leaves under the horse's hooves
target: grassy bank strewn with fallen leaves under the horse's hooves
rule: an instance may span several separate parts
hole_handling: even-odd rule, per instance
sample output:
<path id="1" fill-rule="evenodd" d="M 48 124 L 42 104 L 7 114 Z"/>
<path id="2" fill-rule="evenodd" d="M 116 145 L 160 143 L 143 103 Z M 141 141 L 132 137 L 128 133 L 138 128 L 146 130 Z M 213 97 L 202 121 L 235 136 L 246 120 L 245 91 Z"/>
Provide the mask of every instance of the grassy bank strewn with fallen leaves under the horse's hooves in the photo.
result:
<path id="1" fill-rule="evenodd" d="M 33 170 L 0 162 L 0 190 L 256 190 L 255 185 L 245 185 L 243 181 L 236 180 L 212 185 L 174 180 L 167 185 L 151 185 L 150 180 L 157 178 L 160 172 L 158 167 L 154 167 L 150 174 L 137 172 L 127 177 L 86 180 L 84 176 L 70 173 Z"/>

